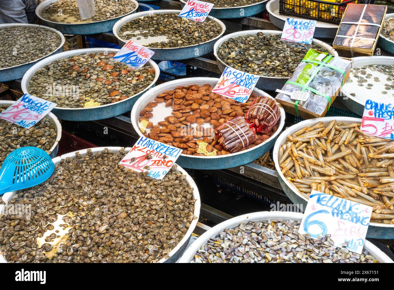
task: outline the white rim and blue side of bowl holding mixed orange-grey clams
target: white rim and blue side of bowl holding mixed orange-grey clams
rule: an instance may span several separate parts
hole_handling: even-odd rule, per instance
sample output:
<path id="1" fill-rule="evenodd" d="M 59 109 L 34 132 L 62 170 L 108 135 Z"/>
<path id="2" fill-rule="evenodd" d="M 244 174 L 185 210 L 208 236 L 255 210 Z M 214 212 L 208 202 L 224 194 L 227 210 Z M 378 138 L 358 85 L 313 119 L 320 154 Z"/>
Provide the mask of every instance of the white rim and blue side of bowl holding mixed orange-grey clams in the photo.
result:
<path id="1" fill-rule="evenodd" d="M 22 79 L 22 91 L 26 94 L 29 93 L 29 80 L 33 77 L 36 71 L 44 67 L 45 65 L 48 65 L 55 60 L 59 60 L 62 58 L 66 58 L 69 56 L 73 55 L 78 55 L 78 54 L 84 54 L 84 53 L 95 53 L 95 52 L 118 52 L 119 49 L 104 49 L 104 48 L 92 48 L 92 49 L 76 49 L 73 51 L 65 51 L 62 53 L 59 53 L 54 56 L 50 56 L 46 58 L 45 60 L 42 60 L 41 62 L 35 64 L 33 67 L 31 67 L 26 74 L 24 75 Z M 125 112 L 128 112 L 131 110 L 132 106 L 134 103 L 137 101 L 137 99 L 143 95 L 147 90 L 152 88 L 156 81 L 159 79 L 160 75 L 160 69 L 157 66 L 157 64 L 149 60 L 148 63 L 151 65 L 151 67 L 154 69 L 154 80 L 152 81 L 147 88 L 145 88 L 143 91 L 139 92 L 138 94 L 129 97 L 127 99 L 124 99 L 122 101 L 118 101 L 115 103 L 110 103 L 106 105 L 101 105 L 97 107 L 91 107 L 91 108 L 57 108 L 55 107 L 52 112 L 61 120 L 69 120 L 69 121 L 93 121 L 93 120 L 101 120 L 101 119 L 106 119 L 106 118 L 111 118 L 114 116 L 121 115 Z"/>

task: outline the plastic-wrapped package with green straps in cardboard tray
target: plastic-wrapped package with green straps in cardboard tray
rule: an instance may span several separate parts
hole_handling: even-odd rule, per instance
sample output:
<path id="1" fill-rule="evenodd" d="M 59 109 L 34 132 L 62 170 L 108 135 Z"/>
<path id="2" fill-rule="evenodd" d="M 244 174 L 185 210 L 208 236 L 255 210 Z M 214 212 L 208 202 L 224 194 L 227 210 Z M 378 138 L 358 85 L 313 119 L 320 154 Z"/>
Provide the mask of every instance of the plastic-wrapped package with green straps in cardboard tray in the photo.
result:
<path id="1" fill-rule="evenodd" d="M 291 114 L 322 117 L 348 79 L 351 64 L 349 59 L 309 49 L 276 100 Z M 297 96 L 295 91 L 299 91 Z"/>

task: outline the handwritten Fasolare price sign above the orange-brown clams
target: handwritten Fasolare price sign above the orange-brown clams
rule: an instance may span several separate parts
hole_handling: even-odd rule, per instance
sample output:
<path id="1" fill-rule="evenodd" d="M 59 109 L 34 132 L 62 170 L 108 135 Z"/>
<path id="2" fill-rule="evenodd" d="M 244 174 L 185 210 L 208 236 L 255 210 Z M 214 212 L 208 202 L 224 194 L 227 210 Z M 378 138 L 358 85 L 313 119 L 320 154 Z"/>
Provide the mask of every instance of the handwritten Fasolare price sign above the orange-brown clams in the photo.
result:
<path id="1" fill-rule="evenodd" d="M 245 103 L 255 88 L 259 76 L 226 67 L 212 92 Z"/>

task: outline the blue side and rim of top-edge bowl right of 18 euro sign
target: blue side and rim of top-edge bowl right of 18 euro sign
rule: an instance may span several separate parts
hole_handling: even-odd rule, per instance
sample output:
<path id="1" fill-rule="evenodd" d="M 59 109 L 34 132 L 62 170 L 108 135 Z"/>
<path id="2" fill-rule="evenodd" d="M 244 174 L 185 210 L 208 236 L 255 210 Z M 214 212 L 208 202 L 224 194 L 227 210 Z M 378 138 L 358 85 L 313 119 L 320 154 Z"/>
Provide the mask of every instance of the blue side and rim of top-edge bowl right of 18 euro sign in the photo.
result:
<path id="1" fill-rule="evenodd" d="M 179 0 L 180 6 L 184 7 L 186 5 L 185 0 Z M 257 3 L 244 6 L 235 7 L 213 7 L 209 12 L 209 15 L 216 17 L 218 19 L 232 19 L 232 18 L 242 18 L 256 15 L 263 12 L 266 9 L 266 3 L 268 0 L 263 0 Z"/>

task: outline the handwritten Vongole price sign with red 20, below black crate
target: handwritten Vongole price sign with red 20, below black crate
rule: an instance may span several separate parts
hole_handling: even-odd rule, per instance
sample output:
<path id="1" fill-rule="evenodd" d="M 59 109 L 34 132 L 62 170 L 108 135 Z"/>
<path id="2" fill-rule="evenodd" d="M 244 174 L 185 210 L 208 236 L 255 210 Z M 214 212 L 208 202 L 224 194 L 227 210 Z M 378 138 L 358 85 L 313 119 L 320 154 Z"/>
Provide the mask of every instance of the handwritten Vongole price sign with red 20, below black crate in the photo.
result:
<path id="1" fill-rule="evenodd" d="M 288 18 L 284 22 L 281 40 L 311 44 L 316 20 Z"/>

